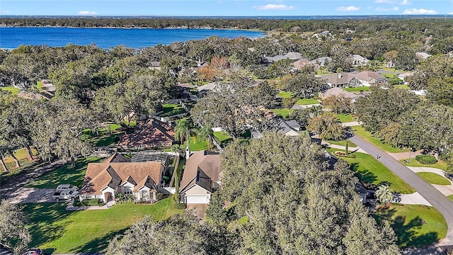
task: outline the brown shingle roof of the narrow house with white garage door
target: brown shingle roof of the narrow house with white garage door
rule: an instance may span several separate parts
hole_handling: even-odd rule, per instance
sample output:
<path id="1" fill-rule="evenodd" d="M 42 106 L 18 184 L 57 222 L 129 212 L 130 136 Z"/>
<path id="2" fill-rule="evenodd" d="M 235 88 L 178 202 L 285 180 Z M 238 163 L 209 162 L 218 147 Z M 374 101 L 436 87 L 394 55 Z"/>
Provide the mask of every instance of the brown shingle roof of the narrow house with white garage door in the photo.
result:
<path id="1" fill-rule="evenodd" d="M 219 154 L 209 154 L 206 151 L 195 152 L 190 155 L 185 163 L 183 179 L 180 185 L 180 191 L 190 188 L 195 183 L 210 191 L 210 187 L 200 177 L 209 177 L 211 181 L 220 181 L 222 177 L 222 168 L 220 167 Z"/>

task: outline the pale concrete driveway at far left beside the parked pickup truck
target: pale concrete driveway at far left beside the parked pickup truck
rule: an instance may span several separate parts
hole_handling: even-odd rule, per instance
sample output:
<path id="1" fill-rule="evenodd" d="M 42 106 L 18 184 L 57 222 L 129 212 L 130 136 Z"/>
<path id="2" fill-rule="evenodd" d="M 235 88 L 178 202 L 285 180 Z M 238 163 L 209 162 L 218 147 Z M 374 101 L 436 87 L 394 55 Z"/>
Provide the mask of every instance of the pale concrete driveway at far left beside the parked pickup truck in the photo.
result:
<path id="1" fill-rule="evenodd" d="M 11 203 L 45 203 L 55 202 L 52 198 L 55 189 L 49 188 L 18 188 L 8 194 Z"/>

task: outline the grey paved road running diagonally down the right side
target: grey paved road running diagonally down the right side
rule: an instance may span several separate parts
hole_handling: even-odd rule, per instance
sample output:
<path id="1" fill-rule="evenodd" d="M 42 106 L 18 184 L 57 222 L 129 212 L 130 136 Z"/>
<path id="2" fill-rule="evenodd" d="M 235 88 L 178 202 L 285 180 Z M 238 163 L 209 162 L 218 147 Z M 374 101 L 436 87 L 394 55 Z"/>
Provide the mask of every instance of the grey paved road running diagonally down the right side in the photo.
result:
<path id="1" fill-rule="evenodd" d="M 364 149 L 366 152 L 371 154 L 373 157 L 380 156 L 379 161 L 384 164 L 387 168 L 398 175 L 403 181 L 406 181 L 409 185 L 415 188 L 423 198 L 425 198 L 432 206 L 442 213 L 447 221 L 448 231 L 447 237 L 440 241 L 439 245 L 452 245 L 453 244 L 453 202 L 444 196 L 440 191 L 437 191 L 430 183 L 421 179 L 411 169 L 398 162 L 396 159 L 391 157 L 386 152 L 375 147 L 369 142 L 362 139 L 357 135 L 350 138 L 357 146 Z"/>

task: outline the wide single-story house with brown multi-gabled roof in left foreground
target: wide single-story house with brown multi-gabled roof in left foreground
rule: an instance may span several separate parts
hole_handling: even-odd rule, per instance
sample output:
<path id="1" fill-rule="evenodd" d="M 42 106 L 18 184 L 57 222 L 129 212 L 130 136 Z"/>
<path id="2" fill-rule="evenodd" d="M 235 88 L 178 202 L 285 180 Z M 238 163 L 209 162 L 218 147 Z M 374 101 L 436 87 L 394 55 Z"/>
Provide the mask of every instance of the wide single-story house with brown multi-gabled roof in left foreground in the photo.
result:
<path id="1" fill-rule="evenodd" d="M 130 162 L 115 153 L 102 163 L 88 164 L 79 198 L 98 198 L 106 203 L 124 193 L 139 201 L 154 202 L 163 175 L 162 162 Z"/>

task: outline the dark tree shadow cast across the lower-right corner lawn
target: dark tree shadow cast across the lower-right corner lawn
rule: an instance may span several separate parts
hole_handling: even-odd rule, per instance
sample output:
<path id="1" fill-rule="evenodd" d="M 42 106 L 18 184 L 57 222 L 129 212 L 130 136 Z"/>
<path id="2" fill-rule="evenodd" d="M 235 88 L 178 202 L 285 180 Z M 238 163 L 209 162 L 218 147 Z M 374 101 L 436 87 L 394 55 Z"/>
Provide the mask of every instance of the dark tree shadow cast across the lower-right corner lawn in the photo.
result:
<path id="1" fill-rule="evenodd" d="M 429 210 L 429 208 L 427 208 Z M 390 220 L 396 212 L 395 208 L 378 210 L 372 214 L 372 217 L 381 224 L 382 220 Z M 420 216 L 414 217 L 411 221 L 406 222 L 406 217 L 398 215 L 390 220 L 391 227 L 394 229 L 398 241 L 396 244 L 400 247 L 420 247 L 427 246 L 437 242 L 440 237 L 437 232 L 427 232 L 420 234 L 421 227 L 429 224 Z"/>

